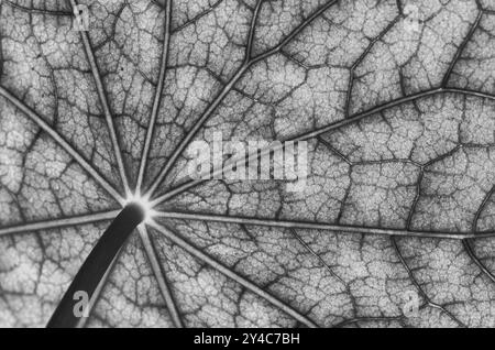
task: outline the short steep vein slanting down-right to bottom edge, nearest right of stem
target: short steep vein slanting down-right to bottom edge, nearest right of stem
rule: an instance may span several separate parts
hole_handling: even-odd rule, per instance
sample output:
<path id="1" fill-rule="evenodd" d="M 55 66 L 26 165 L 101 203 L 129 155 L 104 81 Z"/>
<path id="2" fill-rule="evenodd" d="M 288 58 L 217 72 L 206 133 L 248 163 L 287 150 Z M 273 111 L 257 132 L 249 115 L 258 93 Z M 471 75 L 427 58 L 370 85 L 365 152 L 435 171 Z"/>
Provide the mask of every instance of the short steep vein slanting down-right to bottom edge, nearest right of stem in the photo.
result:
<path id="1" fill-rule="evenodd" d="M 155 248 L 153 247 L 153 242 L 147 232 L 147 229 L 144 225 L 141 225 L 138 227 L 138 230 L 140 231 L 141 242 L 143 243 L 144 251 L 146 253 L 147 260 L 153 271 L 153 275 L 156 282 L 158 283 L 160 292 L 162 293 L 162 296 L 165 299 L 165 304 L 167 306 L 168 313 L 170 314 L 172 320 L 174 321 L 175 327 L 183 328 L 184 325 L 183 320 L 180 319 L 178 307 L 175 304 L 170 288 L 168 287 L 167 280 L 165 277 L 165 272 L 163 271 L 160 264 Z"/>

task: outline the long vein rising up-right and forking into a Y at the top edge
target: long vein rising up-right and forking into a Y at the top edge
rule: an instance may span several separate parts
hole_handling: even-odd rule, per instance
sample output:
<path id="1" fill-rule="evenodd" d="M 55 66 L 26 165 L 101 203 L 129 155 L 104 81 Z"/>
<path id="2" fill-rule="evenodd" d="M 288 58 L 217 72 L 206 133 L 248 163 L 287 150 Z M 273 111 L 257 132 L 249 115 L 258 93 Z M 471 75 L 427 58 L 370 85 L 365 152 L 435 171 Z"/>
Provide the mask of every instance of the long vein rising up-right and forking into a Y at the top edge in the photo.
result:
<path id="1" fill-rule="evenodd" d="M 238 83 L 238 80 L 244 75 L 244 73 L 255 63 L 265 59 L 277 52 L 282 50 L 290 40 L 293 40 L 297 34 L 299 34 L 305 28 L 309 25 L 316 18 L 318 18 L 321 13 L 323 13 L 326 10 L 328 10 L 331 6 L 333 6 L 337 2 L 337 0 L 329 1 L 322 7 L 320 7 L 318 10 L 316 10 L 311 15 L 309 15 L 302 23 L 300 23 L 297 28 L 295 28 L 278 45 L 273 47 L 272 50 L 268 50 L 267 52 L 260 54 L 256 57 L 244 57 L 243 64 L 239 67 L 239 69 L 235 72 L 235 74 L 230 78 L 230 80 L 227 83 L 227 85 L 221 89 L 220 94 L 213 99 L 213 101 L 208 106 L 208 108 L 204 111 L 201 117 L 198 119 L 198 121 L 193 125 L 193 128 L 187 132 L 186 136 L 180 141 L 179 145 L 175 149 L 172 156 L 167 160 L 165 163 L 165 166 L 162 168 L 160 174 L 154 179 L 153 184 L 150 186 L 150 188 L 146 192 L 146 195 L 148 197 L 152 197 L 153 193 L 156 190 L 156 188 L 160 186 L 160 184 L 164 181 L 170 168 L 175 165 L 177 162 L 177 158 L 183 154 L 187 145 L 190 143 L 190 141 L 195 138 L 199 129 L 205 124 L 205 122 L 210 118 L 210 116 L 213 113 L 213 111 L 218 108 L 218 106 L 223 101 L 226 96 L 231 91 L 232 87 Z M 256 9 L 253 13 L 252 21 L 255 23 L 256 17 L 260 12 L 260 4 L 257 3 Z M 253 45 L 252 36 L 254 34 L 254 24 L 251 25 L 250 36 L 248 39 L 249 45 Z M 246 53 L 251 53 L 252 47 L 246 47 Z"/>

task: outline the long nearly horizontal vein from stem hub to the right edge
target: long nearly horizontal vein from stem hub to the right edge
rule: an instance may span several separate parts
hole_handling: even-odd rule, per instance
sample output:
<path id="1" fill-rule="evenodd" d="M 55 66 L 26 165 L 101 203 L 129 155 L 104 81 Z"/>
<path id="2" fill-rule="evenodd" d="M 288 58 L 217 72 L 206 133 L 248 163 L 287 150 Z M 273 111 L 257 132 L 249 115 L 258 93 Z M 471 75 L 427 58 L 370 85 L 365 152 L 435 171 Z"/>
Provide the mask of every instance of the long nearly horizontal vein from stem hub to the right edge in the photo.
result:
<path id="1" fill-rule="evenodd" d="M 251 225 L 251 226 L 267 226 L 278 227 L 286 229 L 309 229 L 309 230 L 330 230 L 345 233 L 358 234 L 380 234 L 380 236 L 402 236 L 402 237 L 418 237 L 418 238 L 442 238 L 452 240 L 462 240 L 466 238 L 482 238 L 495 236 L 495 232 L 483 232 L 473 234 L 472 232 L 437 232 L 437 231 L 416 231 L 416 230 L 400 230 L 400 229 L 382 229 L 345 225 L 330 225 L 330 223 L 317 223 L 309 221 L 296 221 L 296 220 L 279 220 L 279 219 L 257 219 L 240 216 L 223 216 L 223 215 L 205 215 L 197 212 L 177 212 L 166 211 L 157 212 L 157 218 L 180 219 L 180 220 L 195 220 L 195 221 L 212 221 L 224 223 L 238 223 L 238 225 Z"/>

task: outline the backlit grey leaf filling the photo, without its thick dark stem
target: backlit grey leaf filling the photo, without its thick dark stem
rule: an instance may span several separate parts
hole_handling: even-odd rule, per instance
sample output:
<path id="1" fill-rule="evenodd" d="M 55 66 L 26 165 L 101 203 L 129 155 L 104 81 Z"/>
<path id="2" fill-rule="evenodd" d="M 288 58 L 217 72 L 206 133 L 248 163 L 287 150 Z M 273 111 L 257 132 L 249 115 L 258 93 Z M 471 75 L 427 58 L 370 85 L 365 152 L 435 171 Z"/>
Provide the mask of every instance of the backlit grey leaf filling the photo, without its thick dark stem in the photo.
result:
<path id="1" fill-rule="evenodd" d="M 45 326 L 133 194 L 87 327 L 495 326 L 494 11 L 0 1 L 0 326 Z M 216 132 L 308 141 L 304 190 L 185 176 Z"/>

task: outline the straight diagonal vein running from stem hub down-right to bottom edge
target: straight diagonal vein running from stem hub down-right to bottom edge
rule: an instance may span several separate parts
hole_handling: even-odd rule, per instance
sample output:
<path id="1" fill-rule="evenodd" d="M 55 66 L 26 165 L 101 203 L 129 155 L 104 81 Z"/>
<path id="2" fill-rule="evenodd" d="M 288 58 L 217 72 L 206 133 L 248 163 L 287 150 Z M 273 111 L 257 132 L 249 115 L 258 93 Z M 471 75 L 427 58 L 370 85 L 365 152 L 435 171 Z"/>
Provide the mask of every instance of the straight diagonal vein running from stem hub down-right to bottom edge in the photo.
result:
<path id="1" fill-rule="evenodd" d="M 301 315 L 299 311 L 294 309 L 292 306 L 287 305 L 286 303 L 279 300 L 277 297 L 275 297 L 272 294 L 270 294 L 270 293 L 263 291 L 262 288 L 260 288 L 253 282 L 246 280 L 245 277 L 239 275 L 238 273 L 233 272 L 229 267 L 227 267 L 223 264 L 219 263 L 218 261 L 216 261 L 211 256 L 207 255 L 200 249 L 194 247 L 193 244 L 190 244 L 189 242 L 187 242 L 186 240 L 180 238 L 177 233 L 172 231 L 169 228 L 163 227 L 163 226 L 161 226 L 161 225 L 158 225 L 158 223 L 156 223 L 154 221 L 152 221 L 150 223 L 150 226 L 152 226 L 154 229 L 156 229 L 158 232 L 164 234 L 172 242 L 174 242 L 175 244 L 177 244 L 178 247 L 180 247 L 182 249 L 187 251 L 193 256 L 199 259 L 200 261 L 202 261 L 206 264 L 210 265 L 211 267 L 216 269 L 217 271 L 219 271 L 221 274 L 228 276 L 229 278 L 232 278 L 233 281 L 239 283 L 240 285 L 244 286 L 246 289 L 249 289 L 252 293 L 254 293 L 254 294 L 258 295 L 260 297 L 264 298 L 265 300 L 267 300 L 272 305 L 278 307 L 284 313 L 290 315 L 292 317 L 294 317 L 299 322 L 306 325 L 307 327 L 311 327 L 311 328 L 318 327 L 308 317 L 306 317 L 305 315 Z"/>

